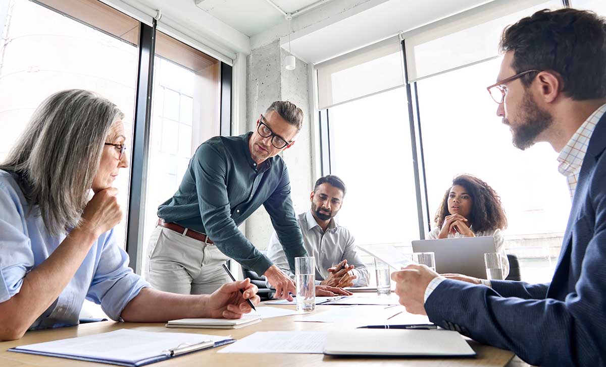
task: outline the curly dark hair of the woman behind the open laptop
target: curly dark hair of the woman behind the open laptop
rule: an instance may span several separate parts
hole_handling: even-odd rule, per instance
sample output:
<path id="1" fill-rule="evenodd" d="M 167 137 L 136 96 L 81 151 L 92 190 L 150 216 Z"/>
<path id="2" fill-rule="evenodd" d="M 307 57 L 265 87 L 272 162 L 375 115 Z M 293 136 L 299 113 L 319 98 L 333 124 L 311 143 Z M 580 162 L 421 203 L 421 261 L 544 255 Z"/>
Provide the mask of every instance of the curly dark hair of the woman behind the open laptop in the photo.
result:
<path id="1" fill-rule="evenodd" d="M 450 189 L 456 185 L 464 187 L 473 200 L 471 215 L 467 219 L 473 224 L 474 232 L 507 228 L 507 218 L 505 217 L 505 209 L 501 204 L 501 197 L 487 183 L 468 174 L 454 177 L 452 185 L 446 190 L 434 218 L 439 228 L 442 228 L 444 218 L 450 215 L 450 212 L 448 212 L 448 195 Z"/>

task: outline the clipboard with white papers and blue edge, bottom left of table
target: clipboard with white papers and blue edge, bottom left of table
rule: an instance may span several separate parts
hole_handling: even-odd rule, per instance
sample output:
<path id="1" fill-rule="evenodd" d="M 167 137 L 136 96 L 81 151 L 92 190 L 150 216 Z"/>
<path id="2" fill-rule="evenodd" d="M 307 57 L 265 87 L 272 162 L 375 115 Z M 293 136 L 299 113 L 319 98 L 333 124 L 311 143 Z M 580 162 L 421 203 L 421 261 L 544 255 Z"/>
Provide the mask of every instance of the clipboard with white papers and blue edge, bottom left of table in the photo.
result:
<path id="1" fill-rule="evenodd" d="M 216 335 L 120 329 L 102 334 L 21 345 L 8 351 L 138 367 L 235 341 L 230 337 Z"/>

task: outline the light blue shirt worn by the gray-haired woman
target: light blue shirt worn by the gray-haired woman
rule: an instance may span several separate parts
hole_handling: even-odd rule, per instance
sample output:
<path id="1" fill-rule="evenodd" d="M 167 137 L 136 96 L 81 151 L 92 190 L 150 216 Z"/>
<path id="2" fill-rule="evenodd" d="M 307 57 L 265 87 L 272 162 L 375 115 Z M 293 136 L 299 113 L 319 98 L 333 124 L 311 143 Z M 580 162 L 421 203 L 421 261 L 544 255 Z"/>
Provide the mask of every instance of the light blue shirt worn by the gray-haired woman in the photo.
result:
<path id="1" fill-rule="evenodd" d="M 47 233 L 38 206 L 30 208 L 12 175 L 0 170 L 0 302 L 19 293 L 28 271 L 64 238 Z M 149 286 L 128 267 L 128 255 L 110 230 L 99 236 L 67 287 L 30 330 L 78 324 L 84 299 L 101 304 L 107 316 L 119 320 L 128 302 Z"/>

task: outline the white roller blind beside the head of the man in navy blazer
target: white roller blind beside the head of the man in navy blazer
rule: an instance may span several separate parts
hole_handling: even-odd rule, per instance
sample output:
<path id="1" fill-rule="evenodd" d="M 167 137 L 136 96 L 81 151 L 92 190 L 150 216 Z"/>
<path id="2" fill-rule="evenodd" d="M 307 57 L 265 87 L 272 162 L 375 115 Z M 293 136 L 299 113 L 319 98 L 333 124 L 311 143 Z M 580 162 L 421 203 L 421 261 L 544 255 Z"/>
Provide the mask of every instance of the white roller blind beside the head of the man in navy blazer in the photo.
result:
<path id="1" fill-rule="evenodd" d="M 410 82 L 499 56 L 503 29 L 561 0 L 495 0 L 404 34 Z"/>

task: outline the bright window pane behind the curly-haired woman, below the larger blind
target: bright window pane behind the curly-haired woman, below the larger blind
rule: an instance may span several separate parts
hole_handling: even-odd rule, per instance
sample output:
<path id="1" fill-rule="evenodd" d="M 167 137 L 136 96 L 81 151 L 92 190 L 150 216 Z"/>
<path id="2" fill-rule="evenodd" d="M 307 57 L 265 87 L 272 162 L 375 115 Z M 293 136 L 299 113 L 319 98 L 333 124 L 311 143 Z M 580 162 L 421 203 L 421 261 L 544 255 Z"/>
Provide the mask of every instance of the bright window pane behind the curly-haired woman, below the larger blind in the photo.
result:
<path id="1" fill-rule="evenodd" d="M 509 222 L 505 246 L 521 258 L 523 279 L 548 281 L 570 195 L 550 145 L 524 152 L 511 145 L 511 133 L 485 88 L 494 83 L 500 64 L 491 60 L 418 82 L 429 212 L 433 219 L 455 175 L 476 175 L 501 196 Z"/>

